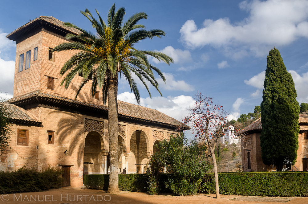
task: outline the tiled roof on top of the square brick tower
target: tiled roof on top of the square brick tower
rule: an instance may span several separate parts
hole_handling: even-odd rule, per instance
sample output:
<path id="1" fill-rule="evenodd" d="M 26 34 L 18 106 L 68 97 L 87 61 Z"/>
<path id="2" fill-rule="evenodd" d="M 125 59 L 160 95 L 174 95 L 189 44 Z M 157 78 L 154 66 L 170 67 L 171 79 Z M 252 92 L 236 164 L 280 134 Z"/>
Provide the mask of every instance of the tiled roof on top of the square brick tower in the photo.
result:
<path id="1" fill-rule="evenodd" d="M 67 26 L 64 26 L 64 22 L 58 20 L 57 18 L 54 18 L 52 16 L 40 16 L 39 18 L 35 18 L 34 20 L 30 21 L 30 22 L 27 22 L 25 25 L 17 28 L 16 30 L 14 30 L 13 32 L 11 32 L 9 35 L 7 35 L 6 37 L 10 39 L 10 36 L 18 33 L 19 31 L 25 29 L 26 27 L 28 26 L 31 26 L 31 25 L 34 25 L 35 23 L 38 23 L 39 21 L 44 21 L 44 22 L 48 22 L 48 23 L 51 23 L 52 25 L 55 25 L 57 27 L 60 27 L 66 31 L 69 31 L 71 33 L 74 33 L 74 34 L 79 34 L 80 31 L 75 29 L 75 28 L 71 28 L 71 27 L 67 27 Z"/>

